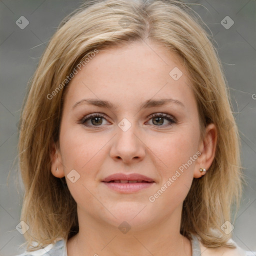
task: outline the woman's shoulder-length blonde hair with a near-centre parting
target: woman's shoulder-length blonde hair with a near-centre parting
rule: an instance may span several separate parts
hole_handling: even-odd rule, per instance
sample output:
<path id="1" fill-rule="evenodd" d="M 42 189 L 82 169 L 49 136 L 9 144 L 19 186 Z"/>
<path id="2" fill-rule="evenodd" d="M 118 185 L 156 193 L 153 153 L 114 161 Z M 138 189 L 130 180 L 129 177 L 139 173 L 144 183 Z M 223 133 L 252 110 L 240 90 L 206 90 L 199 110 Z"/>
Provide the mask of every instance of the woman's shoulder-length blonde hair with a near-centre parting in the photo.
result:
<path id="1" fill-rule="evenodd" d="M 65 177 L 56 178 L 50 171 L 66 77 L 95 49 L 145 40 L 165 45 L 184 62 L 201 137 L 208 123 L 217 127 L 215 158 L 206 175 L 192 181 L 183 202 L 180 233 L 189 239 L 195 233 L 208 247 L 234 247 L 227 242 L 231 233 L 225 234 L 221 225 L 232 222 L 232 206 L 237 210 L 240 202 L 240 141 L 221 63 L 203 26 L 186 4 L 169 0 L 90 0 L 60 23 L 31 79 L 20 118 L 19 160 L 25 189 L 21 220 L 29 225 L 24 233 L 28 250 L 78 232 L 76 202 Z M 32 246 L 32 241 L 38 244 Z"/>

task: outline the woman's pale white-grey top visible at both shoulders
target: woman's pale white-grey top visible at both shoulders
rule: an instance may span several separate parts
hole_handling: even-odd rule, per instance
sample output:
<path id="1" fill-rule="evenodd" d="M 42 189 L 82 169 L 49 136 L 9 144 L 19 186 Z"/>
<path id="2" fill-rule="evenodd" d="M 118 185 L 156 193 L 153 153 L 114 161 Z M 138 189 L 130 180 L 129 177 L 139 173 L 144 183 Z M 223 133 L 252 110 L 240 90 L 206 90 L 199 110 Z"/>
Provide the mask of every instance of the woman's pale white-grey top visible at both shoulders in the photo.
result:
<path id="1" fill-rule="evenodd" d="M 206 254 L 201 254 L 199 239 L 196 235 L 191 234 L 191 244 L 192 244 L 192 256 L 206 256 Z M 232 252 L 232 256 L 256 256 L 256 251 L 245 251 L 240 248 L 232 239 L 229 239 L 229 243 L 233 243 L 236 245 L 236 249 Z M 203 245 L 201 245 L 203 246 Z M 233 254 L 235 253 L 235 254 Z M 38 250 L 34 250 L 31 252 L 23 252 L 22 254 L 16 256 L 67 256 L 67 249 L 66 249 L 66 241 L 64 239 L 58 240 L 54 244 L 48 244 L 46 247 Z M 225 254 L 227 255 L 227 254 Z"/>

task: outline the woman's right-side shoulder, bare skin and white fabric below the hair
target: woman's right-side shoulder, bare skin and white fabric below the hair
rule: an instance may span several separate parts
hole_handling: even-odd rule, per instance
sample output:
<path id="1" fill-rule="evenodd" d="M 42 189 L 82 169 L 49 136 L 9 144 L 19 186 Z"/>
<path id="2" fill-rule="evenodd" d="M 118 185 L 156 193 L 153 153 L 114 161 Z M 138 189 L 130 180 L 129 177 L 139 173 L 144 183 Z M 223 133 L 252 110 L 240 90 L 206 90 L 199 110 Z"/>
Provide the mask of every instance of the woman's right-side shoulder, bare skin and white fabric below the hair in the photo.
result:
<path id="1" fill-rule="evenodd" d="M 209 248 L 205 247 L 200 242 L 201 256 L 256 256 L 256 251 L 246 251 L 239 247 L 232 239 L 229 239 L 229 243 L 232 243 L 236 248 L 218 247 Z"/>

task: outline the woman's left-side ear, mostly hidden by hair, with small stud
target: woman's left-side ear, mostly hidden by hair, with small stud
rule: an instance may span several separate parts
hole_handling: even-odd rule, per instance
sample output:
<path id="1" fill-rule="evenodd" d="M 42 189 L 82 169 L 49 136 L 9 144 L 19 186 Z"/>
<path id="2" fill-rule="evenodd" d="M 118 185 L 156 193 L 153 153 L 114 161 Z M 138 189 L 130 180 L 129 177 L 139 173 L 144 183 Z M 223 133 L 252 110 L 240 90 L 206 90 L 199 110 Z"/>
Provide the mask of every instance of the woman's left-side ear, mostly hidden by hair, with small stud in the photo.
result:
<path id="1" fill-rule="evenodd" d="M 50 160 L 51 160 L 51 173 L 53 176 L 62 178 L 65 176 L 63 170 L 63 164 L 61 159 L 61 154 L 59 151 L 59 143 L 52 142 L 50 150 Z"/>

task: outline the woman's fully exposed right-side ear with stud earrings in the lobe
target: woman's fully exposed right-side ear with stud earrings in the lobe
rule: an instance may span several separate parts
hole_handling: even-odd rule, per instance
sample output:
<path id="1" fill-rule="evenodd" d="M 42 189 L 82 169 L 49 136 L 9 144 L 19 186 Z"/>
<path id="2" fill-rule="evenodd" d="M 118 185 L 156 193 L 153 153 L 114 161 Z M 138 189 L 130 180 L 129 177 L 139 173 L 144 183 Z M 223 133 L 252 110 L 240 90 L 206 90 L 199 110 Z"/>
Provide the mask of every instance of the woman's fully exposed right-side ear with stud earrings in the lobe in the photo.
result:
<path id="1" fill-rule="evenodd" d="M 217 144 L 217 128 L 215 124 L 210 123 L 205 128 L 205 133 L 203 139 L 199 143 L 199 151 L 201 154 L 198 156 L 194 169 L 194 178 L 199 178 L 205 174 L 205 171 L 200 172 L 199 168 L 209 169 L 216 150 Z"/>

